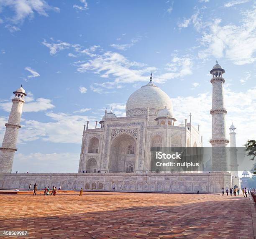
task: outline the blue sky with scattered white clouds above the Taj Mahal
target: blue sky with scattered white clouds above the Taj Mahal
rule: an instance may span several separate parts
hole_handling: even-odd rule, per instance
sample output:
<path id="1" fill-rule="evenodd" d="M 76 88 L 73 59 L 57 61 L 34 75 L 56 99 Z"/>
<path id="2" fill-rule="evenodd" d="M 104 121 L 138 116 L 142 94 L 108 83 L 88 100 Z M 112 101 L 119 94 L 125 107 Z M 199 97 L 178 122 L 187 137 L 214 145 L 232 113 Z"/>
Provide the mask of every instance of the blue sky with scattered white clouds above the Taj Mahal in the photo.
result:
<path id="1" fill-rule="evenodd" d="M 228 128 L 255 139 L 256 4 L 251 0 L 0 0 L 0 141 L 12 92 L 28 93 L 13 171 L 77 172 L 82 129 L 153 81 L 210 146 L 209 71 L 225 69 Z"/>

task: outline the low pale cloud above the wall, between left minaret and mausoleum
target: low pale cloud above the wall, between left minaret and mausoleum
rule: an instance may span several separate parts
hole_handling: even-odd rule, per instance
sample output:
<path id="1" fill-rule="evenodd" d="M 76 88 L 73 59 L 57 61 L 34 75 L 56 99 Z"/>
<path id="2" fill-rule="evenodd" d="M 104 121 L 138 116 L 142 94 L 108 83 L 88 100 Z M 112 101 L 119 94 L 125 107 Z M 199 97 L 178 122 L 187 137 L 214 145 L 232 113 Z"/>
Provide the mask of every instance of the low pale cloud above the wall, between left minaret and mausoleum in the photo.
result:
<path id="1" fill-rule="evenodd" d="M 18 170 L 19 173 L 77 173 L 79 157 L 79 153 L 15 153 L 13 172 Z"/>

